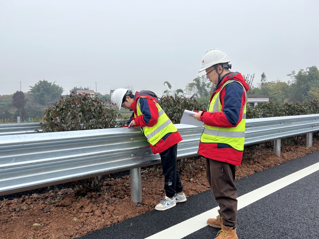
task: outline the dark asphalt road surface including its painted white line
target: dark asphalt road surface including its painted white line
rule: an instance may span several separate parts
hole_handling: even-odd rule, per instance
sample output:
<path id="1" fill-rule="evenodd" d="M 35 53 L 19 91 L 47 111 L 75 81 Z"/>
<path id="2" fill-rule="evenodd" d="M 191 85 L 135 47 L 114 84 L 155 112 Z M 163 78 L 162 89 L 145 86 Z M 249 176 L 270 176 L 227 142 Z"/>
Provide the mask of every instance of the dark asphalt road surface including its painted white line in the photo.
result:
<path id="1" fill-rule="evenodd" d="M 319 238 L 319 152 L 235 184 L 239 238 Z M 206 226 L 205 221 L 216 216 L 217 206 L 209 190 L 167 211 L 153 210 L 81 238 L 215 238 L 219 228 Z"/>

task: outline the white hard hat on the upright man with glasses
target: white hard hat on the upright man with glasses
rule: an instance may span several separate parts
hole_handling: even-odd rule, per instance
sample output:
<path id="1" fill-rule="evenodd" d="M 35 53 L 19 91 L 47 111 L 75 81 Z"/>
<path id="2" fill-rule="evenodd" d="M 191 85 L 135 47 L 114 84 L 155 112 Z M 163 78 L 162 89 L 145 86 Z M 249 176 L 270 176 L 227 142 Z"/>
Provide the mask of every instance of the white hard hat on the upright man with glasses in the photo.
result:
<path id="1" fill-rule="evenodd" d="M 210 49 L 204 53 L 202 68 L 198 72 L 201 72 L 213 65 L 227 62 L 230 62 L 230 60 L 225 52 L 217 48 Z"/>

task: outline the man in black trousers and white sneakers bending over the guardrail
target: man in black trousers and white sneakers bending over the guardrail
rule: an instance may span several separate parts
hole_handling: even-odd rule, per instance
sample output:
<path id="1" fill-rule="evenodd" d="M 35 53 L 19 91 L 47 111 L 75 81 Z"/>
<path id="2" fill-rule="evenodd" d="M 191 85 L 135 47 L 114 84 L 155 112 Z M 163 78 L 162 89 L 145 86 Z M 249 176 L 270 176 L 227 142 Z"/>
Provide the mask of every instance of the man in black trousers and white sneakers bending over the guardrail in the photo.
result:
<path id="1" fill-rule="evenodd" d="M 156 94 L 141 91 L 133 95 L 127 89 L 117 89 L 113 92 L 111 101 L 118 110 L 123 107 L 133 111 L 126 127 L 141 127 L 152 152 L 161 157 L 166 196 L 155 209 L 164 211 L 178 202 L 185 202 L 187 199 L 176 166 L 177 143 L 182 141 L 182 137 L 158 104 Z"/>

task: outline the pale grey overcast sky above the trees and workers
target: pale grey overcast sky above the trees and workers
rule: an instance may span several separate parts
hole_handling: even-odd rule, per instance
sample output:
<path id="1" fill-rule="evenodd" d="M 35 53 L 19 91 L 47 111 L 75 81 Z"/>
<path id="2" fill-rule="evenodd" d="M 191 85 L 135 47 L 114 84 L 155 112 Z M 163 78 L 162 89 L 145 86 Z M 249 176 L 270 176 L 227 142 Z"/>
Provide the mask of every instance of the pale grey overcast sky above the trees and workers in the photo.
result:
<path id="1" fill-rule="evenodd" d="M 95 91 L 184 89 L 206 50 L 233 71 L 287 81 L 319 67 L 319 1 L 0 0 L 0 95 L 56 81 Z"/>

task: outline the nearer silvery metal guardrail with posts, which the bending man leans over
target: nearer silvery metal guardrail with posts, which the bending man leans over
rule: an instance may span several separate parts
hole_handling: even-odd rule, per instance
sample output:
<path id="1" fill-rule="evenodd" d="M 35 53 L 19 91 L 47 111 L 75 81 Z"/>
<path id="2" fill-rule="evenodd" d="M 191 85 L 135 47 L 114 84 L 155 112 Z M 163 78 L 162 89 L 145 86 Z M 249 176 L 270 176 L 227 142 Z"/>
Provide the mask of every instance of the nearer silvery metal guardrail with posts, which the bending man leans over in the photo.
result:
<path id="1" fill-rule="evenodd" d="M 203 128 L 175 126 L 183 138 L 178 159 L 196 156 Z M 317 127 L 319 114 L 249 119 L 245 145 L 310 133 L 312 142 Z M 114 128 L 2 136 L 0 162 L 0 195 L 131 170 L 131 200 L 141 202 L 140 167 L 160 163 L 160 157 L 139 128 Z"/>

